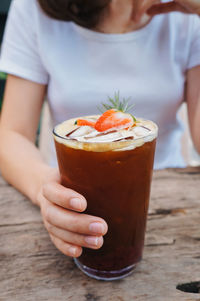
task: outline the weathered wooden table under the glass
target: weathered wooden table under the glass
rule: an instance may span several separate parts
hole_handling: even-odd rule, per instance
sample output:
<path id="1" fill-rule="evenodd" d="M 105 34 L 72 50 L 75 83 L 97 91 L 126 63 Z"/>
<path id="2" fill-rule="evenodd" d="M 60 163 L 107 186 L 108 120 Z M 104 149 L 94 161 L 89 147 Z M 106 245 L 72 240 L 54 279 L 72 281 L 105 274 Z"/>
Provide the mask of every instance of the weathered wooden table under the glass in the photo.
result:
<path id="1" fill-rule="evenodd" d="M 78 270 L 52 245 L 39 209 L 0 178 L 0 301 L 200 300 L 176 289 L 199 281 L 200 167 L 154 173 L 143 261 L 115 282 Z"/>

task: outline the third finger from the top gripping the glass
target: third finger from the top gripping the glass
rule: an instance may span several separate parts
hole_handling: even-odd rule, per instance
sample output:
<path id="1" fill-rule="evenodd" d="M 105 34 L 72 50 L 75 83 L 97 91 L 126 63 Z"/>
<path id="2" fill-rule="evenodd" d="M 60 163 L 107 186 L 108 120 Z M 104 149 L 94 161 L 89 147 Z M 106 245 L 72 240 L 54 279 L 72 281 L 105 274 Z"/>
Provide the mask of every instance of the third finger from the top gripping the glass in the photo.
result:
<path id="1" fill-rule="evenodd" d="M 45 227 L 51 235 L 59 238 L 60 240 L 66 243 L 75 246 L 91 248 L 91 249 L 99 249 L 103 245 L 102 236 L 85 236 L 85 235 L 72 233 L 67 230 L 57 228 L 49 224 L 48 222 L 45 223 Z"/>

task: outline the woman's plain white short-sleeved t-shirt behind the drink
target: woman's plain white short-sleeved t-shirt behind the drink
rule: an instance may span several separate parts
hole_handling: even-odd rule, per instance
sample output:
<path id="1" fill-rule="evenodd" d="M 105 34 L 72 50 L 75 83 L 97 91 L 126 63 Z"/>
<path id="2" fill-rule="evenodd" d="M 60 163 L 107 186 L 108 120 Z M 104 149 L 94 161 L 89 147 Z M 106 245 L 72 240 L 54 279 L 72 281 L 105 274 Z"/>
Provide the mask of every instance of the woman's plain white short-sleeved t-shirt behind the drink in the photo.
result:
<path id="1" fill-rule="evenodd" d="M 196 65 L 197 16 L 159 15 L 138 31 L 103 34 L 49 18 L 36 0 L 13 1 L 0 60 L 2 71 L 48 85 L 53 125 L 98 114 L 100 103 L 117 91 L 131 96 L 132 113 L 159 126 L 156 169 L 185 166 L 177 111 L 186 71 Z"/>

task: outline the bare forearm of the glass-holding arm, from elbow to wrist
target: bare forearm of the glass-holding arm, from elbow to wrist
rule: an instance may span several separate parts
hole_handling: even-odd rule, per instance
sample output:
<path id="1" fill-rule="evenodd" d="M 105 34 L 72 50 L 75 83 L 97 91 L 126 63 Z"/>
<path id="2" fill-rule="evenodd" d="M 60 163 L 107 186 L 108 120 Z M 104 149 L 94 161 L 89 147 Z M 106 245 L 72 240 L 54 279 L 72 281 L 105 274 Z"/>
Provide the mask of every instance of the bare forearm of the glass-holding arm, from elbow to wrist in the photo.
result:
<path id="1" fill-rule="evenodd" d="M 0 169 L 3 177 L 37 204 L 37 193 L 52 168 L 44 162 L 35 145 L 23 135 L 1 130 L 0 141 Z"/>

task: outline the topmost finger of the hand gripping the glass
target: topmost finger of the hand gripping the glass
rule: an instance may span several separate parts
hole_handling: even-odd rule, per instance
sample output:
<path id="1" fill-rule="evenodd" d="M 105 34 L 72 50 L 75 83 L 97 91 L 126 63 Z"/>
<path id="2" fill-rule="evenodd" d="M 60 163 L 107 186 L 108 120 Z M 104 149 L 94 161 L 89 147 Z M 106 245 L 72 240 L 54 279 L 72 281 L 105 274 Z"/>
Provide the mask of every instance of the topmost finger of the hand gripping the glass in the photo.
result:
<path id="1" fill-rule="evenodd" d="M 56 182 L 45 184 L 43 195 L 48 201 L 63 208 L 83 212 L 87 207 L 86 199 L 81 194 Z"/>

